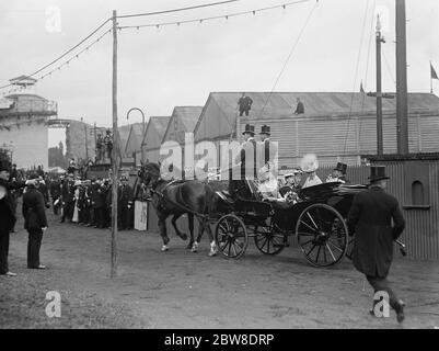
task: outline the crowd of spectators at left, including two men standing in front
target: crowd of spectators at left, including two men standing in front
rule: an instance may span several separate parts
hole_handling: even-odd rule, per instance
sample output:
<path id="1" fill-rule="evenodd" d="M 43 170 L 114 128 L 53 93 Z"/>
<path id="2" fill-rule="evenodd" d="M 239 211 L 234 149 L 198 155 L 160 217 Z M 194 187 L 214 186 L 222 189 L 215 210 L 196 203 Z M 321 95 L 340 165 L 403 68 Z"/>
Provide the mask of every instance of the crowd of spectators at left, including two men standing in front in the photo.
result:
<path id="1" fill-rule="evenodd" d="M 141 192 L 138 193 L 141 196 Z M 43 168 L 18 170 L 9 160 L 0 159 L 0 275 L 16 275 L 9 270 L 8 254 L 10 234 L 15 233 L 20 213 L 20 197 L 24 228 L 28 233 L 28 269 L 46 269 L 39 262 L 39 250 L 48 227 L 47 208 L 53 208 L 60 223 L 94 228 L 112 226 L 112 180 L 81 180 L 74 169 L 62 176 L 50 176 Z M 128 179 L 122 177 L 117 193 L 118 230 L 134 228 L 134 197 Z"/>

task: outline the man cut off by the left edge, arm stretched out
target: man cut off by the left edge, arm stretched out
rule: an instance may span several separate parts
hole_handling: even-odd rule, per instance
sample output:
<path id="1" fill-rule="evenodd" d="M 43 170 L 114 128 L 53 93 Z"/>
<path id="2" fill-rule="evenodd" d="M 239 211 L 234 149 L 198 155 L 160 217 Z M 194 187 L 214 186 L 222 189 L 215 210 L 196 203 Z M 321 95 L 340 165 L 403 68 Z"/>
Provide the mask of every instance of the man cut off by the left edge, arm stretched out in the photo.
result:
<path id="1" fill-rule="evenodd" d="M 24 182 L 10 182 L 10 162 L 0 159 L 0 275 L 15 276 L 8 265 L 9 236 L 16 222 L 11 190 L 24 188 Z"/>

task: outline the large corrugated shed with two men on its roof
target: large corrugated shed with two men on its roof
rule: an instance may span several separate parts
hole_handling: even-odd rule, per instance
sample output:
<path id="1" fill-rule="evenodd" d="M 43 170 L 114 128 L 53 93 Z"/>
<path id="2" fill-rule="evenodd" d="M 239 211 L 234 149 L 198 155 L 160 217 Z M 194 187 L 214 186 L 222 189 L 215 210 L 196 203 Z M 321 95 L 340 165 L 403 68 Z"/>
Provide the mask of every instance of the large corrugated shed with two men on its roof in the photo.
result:
<path id="1" fill-rule="evenodd" d="M 272 127 L 272 139 L 279 143 L 279 165 L 292 167 L 308 152 L 315 152 L 322 165 L 343 160 L 359 165 L 360 155 L 377 152 L 376 99 L 363 93 L 344 92 L 247 92 L 253 99 L 249 117 L 241 117 L 256 131 Z M 224 140 L 236 137 L 238 100 L 241 93 L 213 92 L 209 95 L 195 127 L 195 140 Z M 294 115 L 296 99 L 305 113 Z M 439 98 L 429 93 L 408 94 L 411 152 L 439 149 Z M 396 99 L 383 99 L 384 152 L 396 151 Z"/>

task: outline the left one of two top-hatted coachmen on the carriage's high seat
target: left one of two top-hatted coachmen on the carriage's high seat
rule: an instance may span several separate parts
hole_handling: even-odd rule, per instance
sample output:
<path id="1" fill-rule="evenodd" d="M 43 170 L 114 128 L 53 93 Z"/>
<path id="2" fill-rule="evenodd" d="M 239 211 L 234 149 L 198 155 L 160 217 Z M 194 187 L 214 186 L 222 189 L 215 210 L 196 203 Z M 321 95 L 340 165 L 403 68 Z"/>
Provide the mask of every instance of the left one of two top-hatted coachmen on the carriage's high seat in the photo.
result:
<path id="1" fill-rule="evenodd" d="M 254 125 L 246 124 L 245 129 L 242 133 L 245 141 L 242 145 L 240 154 L 234 159 L 235 166 L 241 168 L 240 179 L 236 178 L 238 174 L 231 171 L 231 177 L 229 181 L 229 192 L 232 197 L 236 197 L 238 195 L 249 197 L 250 194 L 245 190 L 245 180 L 255 180 L 257 178 L 256 166 L 257 166 L 257 158 L 256 158 L 256 140 L 255 136 L 255 127 Z M 240 192 L 240 194 L 238 194 Z"/>

